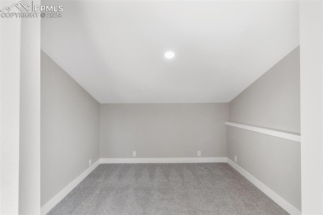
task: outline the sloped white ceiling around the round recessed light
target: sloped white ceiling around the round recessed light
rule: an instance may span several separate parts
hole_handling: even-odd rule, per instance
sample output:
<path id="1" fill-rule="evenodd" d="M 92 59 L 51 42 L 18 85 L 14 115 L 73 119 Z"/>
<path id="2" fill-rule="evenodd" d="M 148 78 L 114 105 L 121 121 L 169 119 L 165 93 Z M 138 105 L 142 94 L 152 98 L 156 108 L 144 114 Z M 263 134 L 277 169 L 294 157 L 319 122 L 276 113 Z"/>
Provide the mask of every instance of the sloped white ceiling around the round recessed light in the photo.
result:
<path id="1" fill-rule="evenodd" d="M 299 45 L 298 1 L 60 4 L 41 48 L 100 103 L 229 102 Z"/>

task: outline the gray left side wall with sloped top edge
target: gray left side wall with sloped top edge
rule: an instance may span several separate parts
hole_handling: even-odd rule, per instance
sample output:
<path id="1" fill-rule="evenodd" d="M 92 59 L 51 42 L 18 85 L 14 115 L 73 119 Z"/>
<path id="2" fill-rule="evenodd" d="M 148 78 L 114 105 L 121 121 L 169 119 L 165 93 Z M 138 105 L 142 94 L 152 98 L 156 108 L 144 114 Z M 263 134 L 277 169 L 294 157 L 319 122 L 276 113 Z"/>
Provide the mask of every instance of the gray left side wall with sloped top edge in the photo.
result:
<path id="1" fill-rule="evenodd" d="M 41 206 L 99 159 L 100 104 L 45 52 L 41 78 Z"/>

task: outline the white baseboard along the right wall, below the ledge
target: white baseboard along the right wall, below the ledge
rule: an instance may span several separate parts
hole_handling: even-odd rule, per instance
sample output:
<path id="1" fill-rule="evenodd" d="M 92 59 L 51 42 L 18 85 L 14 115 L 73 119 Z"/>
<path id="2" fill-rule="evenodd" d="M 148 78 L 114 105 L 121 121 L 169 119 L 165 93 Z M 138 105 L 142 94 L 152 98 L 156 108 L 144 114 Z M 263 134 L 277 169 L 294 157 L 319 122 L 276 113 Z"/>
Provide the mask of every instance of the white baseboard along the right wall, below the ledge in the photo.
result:
<path id="1" fill-rule="evenodd" d="M 284 210 L 289 212 L 290 214 L 301 214 L 301 211 L 297 209 L 294 205 L 286 201 L 283 197 L 278 195 L 276 192 L 274 192 L 272 189 L 264 185 L 262 182 L 260 182 L 258 179 L 253 177 L 250 173 L 245 171 L 243 168 L 241 168 L 239 165 L 237 165 L 235 162 L 233 162 L 231 159 L 228 158 L 228 164 L 233 167 L 236 171 L 238 171 L 241 175 L 243 175 L 247 180 L 249 180 L 252 184 L 254 184 L 259 190 L 261 190 L 264 194 L 266 194 L 268 197 L 273 199 L 279 206 L 281 206 Z"/>

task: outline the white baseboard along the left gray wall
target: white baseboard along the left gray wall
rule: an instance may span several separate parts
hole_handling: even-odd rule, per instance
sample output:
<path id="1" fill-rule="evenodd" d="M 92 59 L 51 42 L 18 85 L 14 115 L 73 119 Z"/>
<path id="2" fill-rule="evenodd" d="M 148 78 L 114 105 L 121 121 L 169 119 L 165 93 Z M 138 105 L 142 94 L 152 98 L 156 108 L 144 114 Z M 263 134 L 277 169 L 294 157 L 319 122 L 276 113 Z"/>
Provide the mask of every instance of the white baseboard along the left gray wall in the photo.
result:
<path id="1" fill-rule="evenodd" d="M 91 165 L 87 170 L 85 170 L 80 176 L 78 176 L 74 181 L 67 185 L 61 192 L 50 199 L 44 206 L 40 208 L 40 214 L 45 215 L 51 210 L 57 203 L 59 203 L 69 192 L 71 192 L 86 176 L 88 176 L 97 166 L 100 164 L 100 159 L 98 159 L 94 164 Z"/>

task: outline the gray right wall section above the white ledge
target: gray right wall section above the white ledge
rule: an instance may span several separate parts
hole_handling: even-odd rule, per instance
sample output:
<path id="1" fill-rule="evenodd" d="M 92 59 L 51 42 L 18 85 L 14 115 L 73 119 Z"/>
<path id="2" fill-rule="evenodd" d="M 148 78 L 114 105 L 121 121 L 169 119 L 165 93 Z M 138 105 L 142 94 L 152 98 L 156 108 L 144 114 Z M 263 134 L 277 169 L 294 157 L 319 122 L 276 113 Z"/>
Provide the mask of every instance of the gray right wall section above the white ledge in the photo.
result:
<path id="1" fill-rule="evenodd" d="M 299 46 L 229 104 L 230 121 L 300 133 Z"/>

